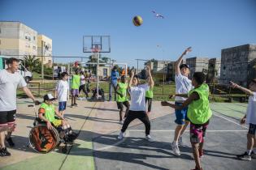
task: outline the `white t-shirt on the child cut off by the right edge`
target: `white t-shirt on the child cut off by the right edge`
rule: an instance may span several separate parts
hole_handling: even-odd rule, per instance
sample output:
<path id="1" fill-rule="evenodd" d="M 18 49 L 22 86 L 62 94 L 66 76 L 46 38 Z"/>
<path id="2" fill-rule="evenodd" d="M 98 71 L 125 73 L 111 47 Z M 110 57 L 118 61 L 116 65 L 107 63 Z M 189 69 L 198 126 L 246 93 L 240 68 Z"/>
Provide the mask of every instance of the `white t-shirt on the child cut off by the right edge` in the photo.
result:
<path id="1" fill-rule="evenodd" d="M 249 96 L 248 107 L 246 112 L 246 124 L 256 125 L 256 92 L 254 96 Z"/>

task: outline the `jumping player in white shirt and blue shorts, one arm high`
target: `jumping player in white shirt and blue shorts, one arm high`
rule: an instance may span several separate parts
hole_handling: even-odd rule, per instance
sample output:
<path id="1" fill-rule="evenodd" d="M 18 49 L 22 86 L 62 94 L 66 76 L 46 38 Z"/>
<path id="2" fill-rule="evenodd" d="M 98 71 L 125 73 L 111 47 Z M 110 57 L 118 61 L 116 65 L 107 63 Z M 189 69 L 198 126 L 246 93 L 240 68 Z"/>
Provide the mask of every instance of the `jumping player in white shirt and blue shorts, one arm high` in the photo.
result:
<path id="1" fill-rule="evenodd" d="M 191 47 L 184 50 L 184 53 L 181 54 L 179 59 L 175 64 L 175 83 L 176 83 L 176 94 L 188 94 L 192 89 L 191 80 L 188 78 L 189 76 L 189 66 L 186 64 L 181 64 L 182 58 L 185 54 L 191 51 Z M 176 96 L 175 104 L 182 105 L 186 98 Z M 176 113 L 176 130 L 173 142 L 171 143 L 172 151 L 176 155 L 180 155 L 180 149 L 178 145 L 182 146 L 182 137 L 181 135 L 184 133 L 184 130 L 189 125 L 189 119 L 187 117 L 188 108 L 183 108 L 182 110 L 175 110 Z"/>

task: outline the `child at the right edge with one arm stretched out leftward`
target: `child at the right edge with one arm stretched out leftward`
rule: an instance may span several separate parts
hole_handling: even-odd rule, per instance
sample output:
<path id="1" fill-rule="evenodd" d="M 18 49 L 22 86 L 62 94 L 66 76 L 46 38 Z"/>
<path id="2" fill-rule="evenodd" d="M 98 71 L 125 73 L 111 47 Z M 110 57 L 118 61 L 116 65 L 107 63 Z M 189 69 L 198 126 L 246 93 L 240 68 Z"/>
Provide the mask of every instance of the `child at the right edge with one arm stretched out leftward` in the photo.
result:
<path id="1" fill-rule="evenodd" d="M 249 125 L 249 131 L 247 134 L 247 151 L 244 154 L 236 155 L 238 159 L 242 160 L 251 160 L 252 158 L 256 159 L 256 79 L 253 79 L 251 83 L 249 83 L 249 89 L 245 87 L 241 87 L 236 83 L 231 83 L 233 88 L 237 88 L 241 91 L 244 91 L 247 95 L 249 95 L 249 102 L 247 107 L 247 112 L 245 117 L 241 119 L 241 124 Z"/>

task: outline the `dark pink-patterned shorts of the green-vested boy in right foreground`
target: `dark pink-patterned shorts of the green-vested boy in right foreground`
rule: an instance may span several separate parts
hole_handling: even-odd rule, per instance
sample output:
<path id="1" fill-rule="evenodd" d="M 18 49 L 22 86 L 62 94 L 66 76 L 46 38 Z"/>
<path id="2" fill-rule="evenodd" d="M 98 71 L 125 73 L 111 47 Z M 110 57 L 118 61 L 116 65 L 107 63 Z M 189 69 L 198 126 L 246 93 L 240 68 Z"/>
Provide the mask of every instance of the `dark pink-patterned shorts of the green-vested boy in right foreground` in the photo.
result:
<path id="1" fill-rule="evenodd" d="M 190 122 L 190 142 L 200 143 L 203 142 L 206 136 L 206 129 L 209 125 L 209 121 L 202 125 L 195 125 Z"/>

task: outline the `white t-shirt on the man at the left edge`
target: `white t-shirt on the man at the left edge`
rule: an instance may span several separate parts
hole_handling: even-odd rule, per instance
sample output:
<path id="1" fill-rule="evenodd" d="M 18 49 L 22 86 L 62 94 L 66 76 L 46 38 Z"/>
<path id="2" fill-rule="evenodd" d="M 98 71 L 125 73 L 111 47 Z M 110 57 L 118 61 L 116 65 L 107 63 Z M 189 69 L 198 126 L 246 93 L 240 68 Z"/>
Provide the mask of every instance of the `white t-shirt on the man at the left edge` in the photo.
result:
<path id="1" fill-rule="evenodd" d="M 14 74 L 0 70 L 0 112 L 16 109 L 17 87 L 25 87 L 27 83 L 18 72 Z"/>

